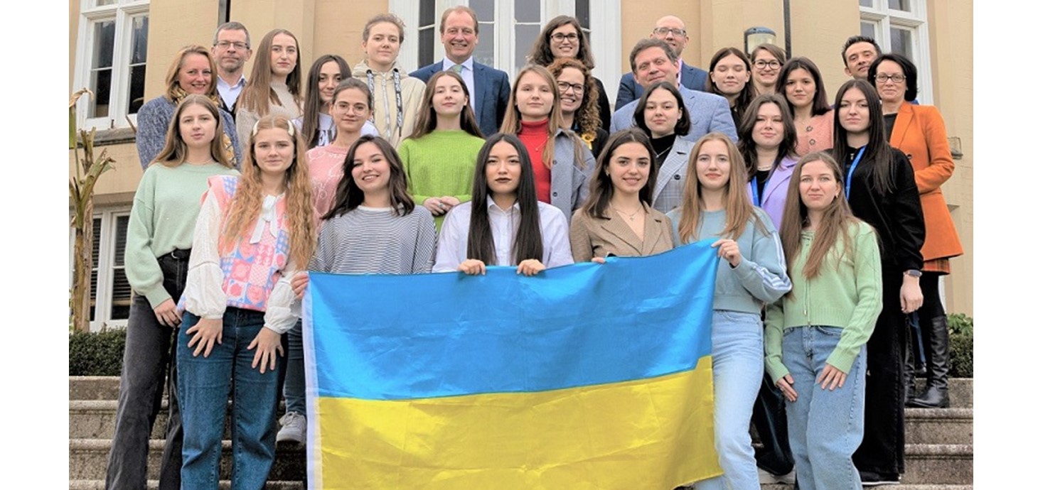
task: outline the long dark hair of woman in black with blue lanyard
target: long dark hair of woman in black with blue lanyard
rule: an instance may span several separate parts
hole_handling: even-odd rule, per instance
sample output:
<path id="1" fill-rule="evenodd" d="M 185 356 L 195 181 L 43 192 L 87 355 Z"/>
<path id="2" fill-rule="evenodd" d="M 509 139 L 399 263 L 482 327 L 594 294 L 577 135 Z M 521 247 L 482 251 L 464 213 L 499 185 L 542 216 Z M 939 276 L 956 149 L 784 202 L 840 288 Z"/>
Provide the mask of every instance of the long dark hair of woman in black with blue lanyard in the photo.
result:
<path id="1" fill-rule="evenodd" d="M 883 133 L 883 106 L 879 99 L 879 92 L 869 82 L 865 80 L 852 79 L 840 87 L 837 92 L 837 123 L 832 138 L 832 157 L 840 165 L 845 165 L 848 158 L 847 129 L 840 123 L 840 106 L 843 104 L 844 94 L 847 90 L 856 88 L 865 94 L 865 100 L 869 105 L 869 143 L 865 147 L 863 162 L 872 162 L 871 166 L 866 166 L 869 172 L 869 181 L 879 193 L 889 193 L 894 189 L 894 177 L 892 174 L 894 167 L 894 150 L 886 142 L 886 135 Z"/>

